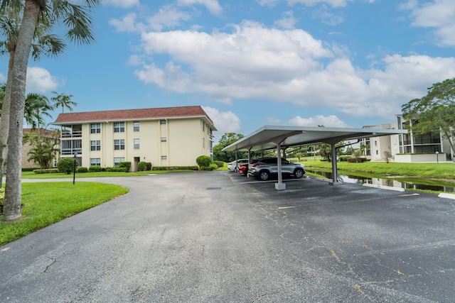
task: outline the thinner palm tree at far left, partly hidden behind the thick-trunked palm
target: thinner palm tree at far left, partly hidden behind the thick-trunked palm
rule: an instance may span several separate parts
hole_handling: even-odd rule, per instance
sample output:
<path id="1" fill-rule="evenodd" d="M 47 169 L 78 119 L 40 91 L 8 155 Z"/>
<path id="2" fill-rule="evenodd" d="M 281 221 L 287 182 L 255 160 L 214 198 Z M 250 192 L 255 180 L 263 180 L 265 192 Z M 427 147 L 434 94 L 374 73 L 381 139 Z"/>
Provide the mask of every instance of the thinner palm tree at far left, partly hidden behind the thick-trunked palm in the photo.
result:
<path id="1" fill-rule="evenodd" d="M 18 31 L 21 24 L 21 11 L 23 10 L 22 2 L 18 5 L 7 6 L 0 15 L 0 33 L 6 37 L 6 40 L 0 41 L 0 55 L 9 55 L 8 79 L 4 87 L 4 98 L 2 99 L 1 111 L 4 114 L 0 120 L 0 184 L 3 181 L 5 172 L 4 160 L 6 159 L 8 148 L 9 133 L 9 116 L 11 104 L 11 81 L 14 54 L 16 53 Z M 53 27 L 53 21 L 48 18 L 41 18 L 36 27 L 31 44 L 31 52 L 34 60 L 38 60 L 41 55 L 58 55 L 65 48 L 63 40 L 50 33 Z"/>

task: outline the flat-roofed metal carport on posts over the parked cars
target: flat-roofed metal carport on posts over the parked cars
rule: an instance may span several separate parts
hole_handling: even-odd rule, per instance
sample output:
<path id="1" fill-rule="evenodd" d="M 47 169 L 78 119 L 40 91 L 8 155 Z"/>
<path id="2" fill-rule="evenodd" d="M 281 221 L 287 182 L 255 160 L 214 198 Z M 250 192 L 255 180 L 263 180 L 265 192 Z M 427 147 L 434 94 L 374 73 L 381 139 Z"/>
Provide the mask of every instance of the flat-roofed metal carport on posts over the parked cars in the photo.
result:
<path id="1" fill-rule="evenodd" d="M 403 129 L 374 129 L 374 128 L 329 128 L 303 126 L 262 126 L 250 135 L 223 148 L 223 151 L 248 151 L 248 158 L 252 151 L 277 150 L 277 159 L 282 157 L 282 149 L 327 143 L 331 145 L 332 182 L 331 185 L 340 185 L 338 182 L 336 165 L 336 143 L 361 138 L 390 136 L 407 133 Z M 281 161 L 277 161 L 278 171 L 282 171 Z M 275 188 L 286 189 L 282 174 L 278 174 L 278 183 Z"/>

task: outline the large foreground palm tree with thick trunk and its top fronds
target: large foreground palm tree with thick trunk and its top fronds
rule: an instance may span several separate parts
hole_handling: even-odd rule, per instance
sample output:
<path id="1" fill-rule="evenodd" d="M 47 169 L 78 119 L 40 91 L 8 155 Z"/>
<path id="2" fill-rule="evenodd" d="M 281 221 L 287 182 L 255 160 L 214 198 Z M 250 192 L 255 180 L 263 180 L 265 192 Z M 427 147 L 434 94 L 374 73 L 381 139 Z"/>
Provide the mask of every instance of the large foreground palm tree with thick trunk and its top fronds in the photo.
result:
<path id="1" fill-rule="evenodd" d="M 25 106 L 28 57 L 38 17 L 61 21 L 69 31 L 67 37 L 76 43 L 94 40 L 90 31 L 92 7 L 101 0 L 25 0 L 21 27 L 18 31 L 16 53 L 11 72 L 11 104 L 9 121 L 9 153 L 6 167 L 4 219 L 21 217 L 21 155 L 23 137 L 23 112 Z M 78 4 L 85 4 L 85 6 Z M 22 0 L 0 0 L 0 15 L 9 7 L 21 6 Z"/>

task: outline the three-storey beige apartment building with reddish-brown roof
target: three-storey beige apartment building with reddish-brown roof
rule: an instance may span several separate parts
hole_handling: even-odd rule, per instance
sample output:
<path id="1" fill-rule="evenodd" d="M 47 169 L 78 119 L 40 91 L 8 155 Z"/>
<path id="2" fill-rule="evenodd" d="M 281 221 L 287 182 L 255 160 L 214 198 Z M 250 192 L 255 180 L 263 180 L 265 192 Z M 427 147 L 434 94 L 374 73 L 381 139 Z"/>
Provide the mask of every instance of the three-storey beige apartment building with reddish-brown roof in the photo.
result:
<path id="1" fill-rule="evenodd" d="M 62 158 L 76 155 L 82 167 L 131 162 L 193 166 L 200 155 L 213 158 L 213 121 L 200 106 L 126 109 L 59 114 Z"/>

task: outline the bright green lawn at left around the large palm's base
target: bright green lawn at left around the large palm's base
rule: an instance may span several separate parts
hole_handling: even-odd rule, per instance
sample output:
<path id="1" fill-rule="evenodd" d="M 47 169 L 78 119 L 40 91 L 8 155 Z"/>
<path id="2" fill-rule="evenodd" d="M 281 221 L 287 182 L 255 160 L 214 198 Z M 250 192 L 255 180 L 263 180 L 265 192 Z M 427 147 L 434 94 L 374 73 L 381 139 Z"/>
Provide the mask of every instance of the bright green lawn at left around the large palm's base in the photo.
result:
<path id="1" fill-rule="evenodd" d="M 126 187 L 96 182 L 23 183 L 22 217 L 1 221 L 0 216 L 0 246 L 127 192 Z"/>

